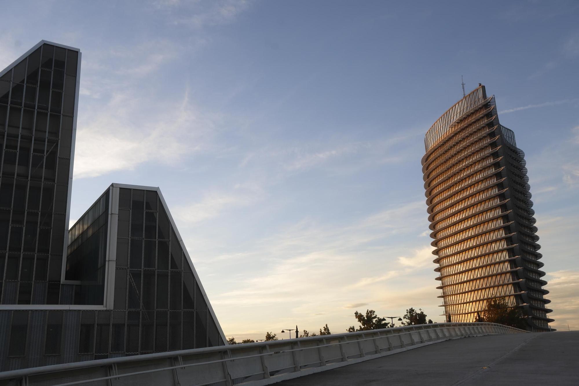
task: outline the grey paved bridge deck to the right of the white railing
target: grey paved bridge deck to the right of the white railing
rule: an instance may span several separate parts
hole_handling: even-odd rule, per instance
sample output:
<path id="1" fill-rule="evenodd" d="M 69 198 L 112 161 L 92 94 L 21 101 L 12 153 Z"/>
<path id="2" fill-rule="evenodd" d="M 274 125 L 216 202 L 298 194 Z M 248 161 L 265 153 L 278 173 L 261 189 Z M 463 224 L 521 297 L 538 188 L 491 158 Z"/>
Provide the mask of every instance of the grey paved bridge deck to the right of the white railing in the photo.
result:
<path id="1" fill-rule="evenodd" d="M 491 335 L 435 343 L 278 383 L 579 385 L 579 332 Z"/>

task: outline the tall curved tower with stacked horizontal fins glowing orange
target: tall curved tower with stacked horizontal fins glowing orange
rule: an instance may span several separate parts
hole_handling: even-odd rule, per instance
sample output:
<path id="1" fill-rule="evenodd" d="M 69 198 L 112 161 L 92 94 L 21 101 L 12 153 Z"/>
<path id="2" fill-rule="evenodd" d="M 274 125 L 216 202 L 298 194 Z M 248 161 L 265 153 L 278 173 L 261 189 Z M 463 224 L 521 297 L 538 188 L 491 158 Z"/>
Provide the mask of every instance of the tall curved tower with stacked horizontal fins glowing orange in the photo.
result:
<path id="1" fill-rule="evenodd" d="M 434 263 L 447 321 L 472 322 L 486 301 L 522 309 L 529 330 L 547 330 L 525 153 L 499 123 L 485 86 L 449 108 L 424 137 L 422 158 Z"/>

